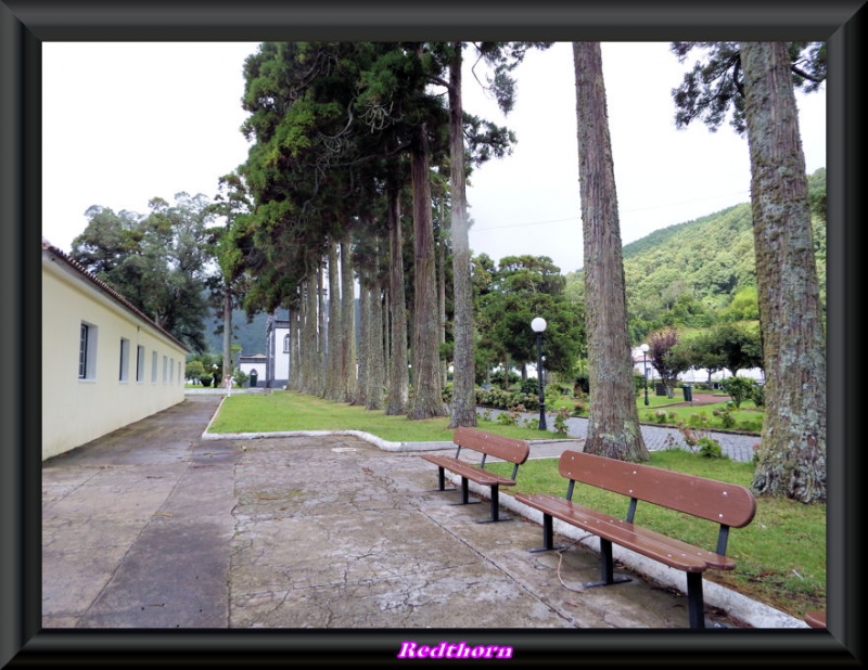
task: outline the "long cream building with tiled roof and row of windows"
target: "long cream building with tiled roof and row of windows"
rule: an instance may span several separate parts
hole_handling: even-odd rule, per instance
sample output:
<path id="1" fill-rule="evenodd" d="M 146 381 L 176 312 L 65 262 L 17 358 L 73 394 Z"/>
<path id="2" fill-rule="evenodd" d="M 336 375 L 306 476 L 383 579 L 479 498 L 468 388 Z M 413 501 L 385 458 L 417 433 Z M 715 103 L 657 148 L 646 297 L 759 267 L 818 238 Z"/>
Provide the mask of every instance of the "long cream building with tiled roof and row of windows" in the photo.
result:
<path id="1" fill-rule="evenodd" d="M 183 401 L 190 350 L 42 239 L 42 460 Z"/>

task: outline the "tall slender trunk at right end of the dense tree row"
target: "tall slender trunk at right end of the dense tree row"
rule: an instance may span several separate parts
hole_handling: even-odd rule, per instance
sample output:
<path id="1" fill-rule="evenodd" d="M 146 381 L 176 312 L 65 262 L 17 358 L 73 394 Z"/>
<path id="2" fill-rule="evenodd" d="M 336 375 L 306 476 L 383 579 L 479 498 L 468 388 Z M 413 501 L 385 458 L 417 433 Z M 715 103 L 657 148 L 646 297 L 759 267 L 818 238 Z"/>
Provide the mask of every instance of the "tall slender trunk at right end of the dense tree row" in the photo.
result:
<path id="1" fill-rule="evenodd" d="M 473 287 L 464 178 L 464 127 L 461 103 L 461 42 L 449 63 L 450 180 L 452 182 L 452 414 L 449 427 L 476 425 L 476 353 L 473 343 Z"/>

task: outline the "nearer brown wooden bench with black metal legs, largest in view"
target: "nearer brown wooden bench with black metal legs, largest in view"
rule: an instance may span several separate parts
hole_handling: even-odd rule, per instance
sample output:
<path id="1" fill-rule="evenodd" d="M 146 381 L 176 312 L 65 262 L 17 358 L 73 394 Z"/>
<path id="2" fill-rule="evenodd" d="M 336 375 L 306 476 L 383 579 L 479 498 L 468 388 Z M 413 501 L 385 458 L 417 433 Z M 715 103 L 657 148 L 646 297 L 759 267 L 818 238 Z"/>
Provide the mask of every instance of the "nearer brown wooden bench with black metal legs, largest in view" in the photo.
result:
<path id="1" fill-rule="evenodd" d="M 729 529 L 746 526 L 756 512 L 756 500 L 750 489 L 572 450 L 563 452 L 558 467 L 560 474 L 569 479 L 564 498 L 515 495 L 515 500 L 542 512 L 544 546 L 531 551 L 562 549 L 553 545 L 552 518 L 558 518 L 600 539 L 601 579 L 585 587 L 629 581 L 627 577 L 614 576 L 613 544 L 684 570 L 690 628 L 705 628 L 702 574 L 712 568 L 731 570 L 736 567 L 735 561 L 726 556 L 726 545 Z M 576 481 L 627 497 L 629 505 L 625 517 L 610 516 L 572 502 Z M 716 551 L 706 551 L 636 525 L 634 516 L 639 501 L 718 524 Z"/>

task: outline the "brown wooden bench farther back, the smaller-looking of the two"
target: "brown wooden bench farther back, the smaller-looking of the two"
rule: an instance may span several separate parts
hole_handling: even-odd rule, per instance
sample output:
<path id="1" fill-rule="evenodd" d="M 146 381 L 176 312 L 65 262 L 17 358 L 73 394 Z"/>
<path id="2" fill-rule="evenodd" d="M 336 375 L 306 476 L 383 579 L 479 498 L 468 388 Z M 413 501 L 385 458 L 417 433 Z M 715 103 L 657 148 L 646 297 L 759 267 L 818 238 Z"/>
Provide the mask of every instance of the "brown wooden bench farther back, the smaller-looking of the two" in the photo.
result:
<path id="1" fill-rule="evenodd" d="M 457 446 L 454 456 L 422 454 L 425 461 L 430 461 L 437 466 L 438 491 L 447 490 L 445 487 L 444 471 L 450 471 L 461 477 L 461 502 L 456 503 L 467 505 L 471 501 L 468 499 L 468 481 L 474 481 L 480 486 L 487 486 L 492 489 L 492 516 L 478 521 L 487 524 L 492 521 L 508 521 L 510 517 L 499 514 L 499 488 L 501 486 L 515 486 L 515 477 L 519 474 L 519 466 L 527 460 L 531 453 L 529 444 L 526 440 L 519 440 L 501 435 L 492 435 L 475 428 L 456 428 L 452 435 L 452 442 Z M 482 454 L 478 465 L 475 465 L 460 458 L 461 450 L 468 449 Z M 510 461 L 515 466 L 512 468 L 512 477 L 503 477 L 492 471 L 485 469 L 485 459 L 487 456 Z M 480 502 L 480 501 L 473 501 Z"/>

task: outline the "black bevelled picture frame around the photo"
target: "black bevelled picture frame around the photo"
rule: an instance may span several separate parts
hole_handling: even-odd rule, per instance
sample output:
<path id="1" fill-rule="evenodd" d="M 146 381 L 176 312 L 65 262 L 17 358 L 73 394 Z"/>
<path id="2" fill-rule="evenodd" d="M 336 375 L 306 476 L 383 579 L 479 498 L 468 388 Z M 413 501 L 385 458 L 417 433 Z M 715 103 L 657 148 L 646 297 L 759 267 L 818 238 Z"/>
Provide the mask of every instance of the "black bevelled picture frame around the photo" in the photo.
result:
<path id="1" fill-rule="evenodd" d="M 828 629 L 487 631 L 515 660 L 617 665 L 860 665 L 861 444 L 856 439 L 857 231 L 865 226 L 860 1 L 353 4 L 0 0 L 0 291 L 7 394 L 0 403 L 0 666 L 173 662 L 220 667 L 397 662 L 406 630 L 95 631 L 41 629 L 41 43 L 292 39 L 828 40 Z M 640 68 L 641 64 L 637 64 Z M 426 631 L 434 636 L 439 631 Z M 458 631 L 449 631 L 455 639 Z M 444 631 L 444 634 L 446 631 Z M 476 634 L 476 632 L 474 632 Z M 444 637 L 445 639 L 445 637 Z M 446 661 L 441 661 L 446 662 Z M 463 662 L 463 661 L 460 661 Z"/>

